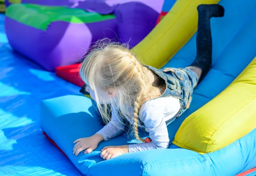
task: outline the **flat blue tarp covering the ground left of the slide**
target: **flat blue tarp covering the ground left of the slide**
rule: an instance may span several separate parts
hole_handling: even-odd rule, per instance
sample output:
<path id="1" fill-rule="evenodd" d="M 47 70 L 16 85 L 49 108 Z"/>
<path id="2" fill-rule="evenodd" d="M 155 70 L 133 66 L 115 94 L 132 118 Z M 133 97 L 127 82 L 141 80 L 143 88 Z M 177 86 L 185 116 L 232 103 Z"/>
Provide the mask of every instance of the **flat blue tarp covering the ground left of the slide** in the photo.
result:
<path id="1" fill-rule="evenodd" d="M 39 126 L 42 100 L 77 93 L 79 87 L 13 53 L 0 14 L 0 176 L 82 175 Z"/>

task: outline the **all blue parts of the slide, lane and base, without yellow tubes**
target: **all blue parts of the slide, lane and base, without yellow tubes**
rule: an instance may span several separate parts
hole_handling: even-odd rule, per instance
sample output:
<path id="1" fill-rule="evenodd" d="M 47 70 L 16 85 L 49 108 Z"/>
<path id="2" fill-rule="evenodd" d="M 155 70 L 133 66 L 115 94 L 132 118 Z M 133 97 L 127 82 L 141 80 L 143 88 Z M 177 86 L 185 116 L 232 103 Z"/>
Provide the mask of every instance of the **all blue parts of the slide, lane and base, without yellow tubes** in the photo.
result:
<path id="1" fill-rule="evenodd" d="M 256 1 L 222 0 L 223 18 L 212 18 L 213 65 L 195 88 L 190 108 L 168 125 L 172 141 L 183 120 L 227 87 L 256 56 Z M 239 9 L 239 10 L 238 10 Z M 196 54 L 195 36 L 165 67 L 185 67 Z M 256 130 L 233 144 L 204 155 L 170 145 L 169 149 L 125 153 L 103 161 L 100 150 L 108 145 L 125 145 L 131 141 L 124 134 L 101 142 L 92 153 L 73 155 L 73 141 L 94 134 L 102 125 L 93 102 L 83 96 L 65 96 L 42 103 L 42 129 L 67 154 L 85 175 L 155 176 L 212 175 L 234 176 L 256 167 Z"/>

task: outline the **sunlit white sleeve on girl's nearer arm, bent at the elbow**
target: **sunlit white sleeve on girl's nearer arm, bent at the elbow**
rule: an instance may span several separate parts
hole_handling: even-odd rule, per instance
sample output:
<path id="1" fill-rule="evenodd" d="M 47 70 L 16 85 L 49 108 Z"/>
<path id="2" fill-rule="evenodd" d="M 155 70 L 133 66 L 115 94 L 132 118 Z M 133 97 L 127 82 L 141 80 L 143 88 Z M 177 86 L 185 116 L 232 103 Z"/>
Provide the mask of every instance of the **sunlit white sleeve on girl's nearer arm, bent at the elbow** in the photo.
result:
<path id="1" fill-rule="evenodd" d="M 170 139 L 166 122 L 164 121 L 164 111 L 165 107 L 159 105 L 149 105 L 142 110 L 140 119 L 143 121 L 152 141 L 129 145 L 130 153 L 168 148 Z"/>

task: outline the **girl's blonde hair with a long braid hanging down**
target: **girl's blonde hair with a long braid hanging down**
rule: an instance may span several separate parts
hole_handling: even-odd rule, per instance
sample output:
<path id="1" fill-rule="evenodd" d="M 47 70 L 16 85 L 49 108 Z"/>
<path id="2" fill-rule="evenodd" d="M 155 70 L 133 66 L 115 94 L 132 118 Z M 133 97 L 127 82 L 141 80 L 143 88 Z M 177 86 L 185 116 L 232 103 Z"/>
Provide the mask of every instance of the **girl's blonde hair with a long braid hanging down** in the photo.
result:
<path id="1" fill-rule="evenodd" d="M 97 47 L 92 49 L 81 64 L 80 75 L 82 80 L 95 91 L 97 107 L 102 119 L 110 121 L 107 113 L 107 103 L 99 102 L 97 90 L 117 90 L 116 98 L 111 105 L 117 105 L 122 114 L 133 119 L 133 131 L 137 140 L 145 142 L 138 133 L 139 108 L 143 104 L 144 87 L 146 87 L 143 65 L 131 53 L 127 44 L 105 43 L 100 41 Z M 129 116 L 128 106 L 133 107 L 133 117 Z M 112 108 L 113 110 L 113 108 Z"/>

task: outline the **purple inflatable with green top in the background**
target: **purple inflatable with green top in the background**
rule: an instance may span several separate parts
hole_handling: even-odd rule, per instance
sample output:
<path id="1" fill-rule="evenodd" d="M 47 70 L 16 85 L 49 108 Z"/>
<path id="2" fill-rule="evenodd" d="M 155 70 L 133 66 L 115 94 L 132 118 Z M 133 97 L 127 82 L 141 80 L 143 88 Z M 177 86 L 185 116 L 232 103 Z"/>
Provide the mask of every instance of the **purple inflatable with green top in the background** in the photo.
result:
<path id="1" fill-rule="evenodd" d="M 10 45 L 48 71 L 79 62 L 104 37 L 136 45 L 154 28 L 163 5 L 163 0 L 10 2 L 5 21 Z"/>

